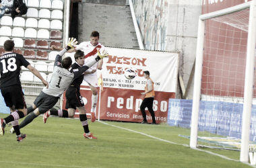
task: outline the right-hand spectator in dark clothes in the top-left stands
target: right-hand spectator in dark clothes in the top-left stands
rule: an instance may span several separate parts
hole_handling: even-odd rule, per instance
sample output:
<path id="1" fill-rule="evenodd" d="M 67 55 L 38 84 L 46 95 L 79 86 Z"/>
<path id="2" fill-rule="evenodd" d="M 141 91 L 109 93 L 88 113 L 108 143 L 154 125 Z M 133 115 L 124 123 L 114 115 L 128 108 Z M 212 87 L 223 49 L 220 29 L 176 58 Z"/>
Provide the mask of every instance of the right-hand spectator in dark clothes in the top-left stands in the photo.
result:
<path id="1" fill-rule="evenodd" d="M 14 0 L 13 1 L 13 10 L 11 11 L 12 19 L 15 18 L 16 15 L 22 17 L 28 11 L 28 7 L 26 7 L 26 3 L 24 0 Z"/>

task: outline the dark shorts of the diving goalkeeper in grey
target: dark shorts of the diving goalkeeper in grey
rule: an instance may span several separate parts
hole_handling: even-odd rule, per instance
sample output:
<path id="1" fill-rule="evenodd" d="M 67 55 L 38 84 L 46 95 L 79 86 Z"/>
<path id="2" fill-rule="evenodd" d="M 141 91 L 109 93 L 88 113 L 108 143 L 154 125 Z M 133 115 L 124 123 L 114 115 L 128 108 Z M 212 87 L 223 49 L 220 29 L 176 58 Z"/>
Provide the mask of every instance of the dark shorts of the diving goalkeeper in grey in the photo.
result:
<path id="1" fill-rule="evenodd" d="M 34 105 L 36 105 L 40 114 L 44 114 L 45 112 L 53 108 L 58 100 L 59 97 L 47 95 L 46 93 L 41 91 L 38 97 L 36 97 L 36 99 L 34 100 Z"/>

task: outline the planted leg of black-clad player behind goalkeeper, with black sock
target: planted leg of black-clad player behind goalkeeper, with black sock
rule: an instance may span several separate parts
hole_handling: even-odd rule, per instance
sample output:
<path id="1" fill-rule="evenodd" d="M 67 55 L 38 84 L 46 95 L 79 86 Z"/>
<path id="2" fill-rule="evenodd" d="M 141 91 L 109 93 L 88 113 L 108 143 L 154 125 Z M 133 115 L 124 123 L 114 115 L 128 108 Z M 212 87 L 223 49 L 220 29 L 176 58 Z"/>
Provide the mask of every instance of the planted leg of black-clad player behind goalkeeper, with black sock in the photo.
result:
<path id="1" fill-rule="evenodd" d="M 95 136 L 92 135 L 89 130 L 88 120 L 86 116 L 86 108 L 84 106 L 77 107 L 77 110 L 79 111 L 80 122 L 84 128 L 84 138 L 97 139 Z"/>

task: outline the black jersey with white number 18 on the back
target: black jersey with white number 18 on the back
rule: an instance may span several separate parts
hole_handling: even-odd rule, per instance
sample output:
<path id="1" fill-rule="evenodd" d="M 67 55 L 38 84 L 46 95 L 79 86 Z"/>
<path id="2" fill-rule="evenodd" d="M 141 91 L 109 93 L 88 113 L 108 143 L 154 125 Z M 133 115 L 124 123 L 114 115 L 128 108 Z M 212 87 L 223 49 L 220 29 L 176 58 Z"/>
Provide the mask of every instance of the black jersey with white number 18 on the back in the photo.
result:
<path id="1" fill-rule="evenodd" d="M 11 85 L 21 85 L 20 83 L 20 67 L 28 67 L 30 63 L 22 56 L 15 52 L 7 52 L 0 56 L 0 87 Z"/>

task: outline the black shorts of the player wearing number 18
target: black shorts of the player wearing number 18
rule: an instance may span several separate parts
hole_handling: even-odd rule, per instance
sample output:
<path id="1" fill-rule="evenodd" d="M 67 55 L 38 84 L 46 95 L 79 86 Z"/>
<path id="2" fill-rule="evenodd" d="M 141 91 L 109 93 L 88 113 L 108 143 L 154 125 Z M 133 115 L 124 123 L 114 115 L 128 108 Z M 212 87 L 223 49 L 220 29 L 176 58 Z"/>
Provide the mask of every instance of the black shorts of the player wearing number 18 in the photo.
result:
<path id="1" fill-rule="evenodd" d="M 12 106 L 15 106 L 15 109 L 27 108 L 21 85 L 1 87 L 1 93 L 7 107 L 12 108 Z"/>

